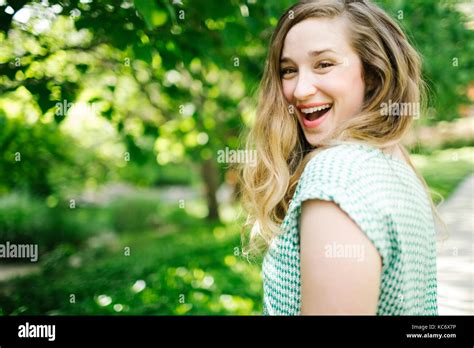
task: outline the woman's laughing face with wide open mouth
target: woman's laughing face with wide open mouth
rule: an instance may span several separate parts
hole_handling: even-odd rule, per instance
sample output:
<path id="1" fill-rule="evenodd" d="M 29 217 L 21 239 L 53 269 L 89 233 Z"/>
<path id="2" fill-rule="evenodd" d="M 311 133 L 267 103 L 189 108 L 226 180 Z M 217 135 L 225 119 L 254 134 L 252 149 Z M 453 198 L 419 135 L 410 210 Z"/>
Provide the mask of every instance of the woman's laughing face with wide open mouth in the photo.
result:
<path id="1" fill-rule="evenodd" d="M 327 140 L 346 119 L 361 111 L 362 62 L 349 43 L 343 18 L 310 18 L 293 26 L 283 45 L 283 93 L 295 106 L 306 140 Z"/>

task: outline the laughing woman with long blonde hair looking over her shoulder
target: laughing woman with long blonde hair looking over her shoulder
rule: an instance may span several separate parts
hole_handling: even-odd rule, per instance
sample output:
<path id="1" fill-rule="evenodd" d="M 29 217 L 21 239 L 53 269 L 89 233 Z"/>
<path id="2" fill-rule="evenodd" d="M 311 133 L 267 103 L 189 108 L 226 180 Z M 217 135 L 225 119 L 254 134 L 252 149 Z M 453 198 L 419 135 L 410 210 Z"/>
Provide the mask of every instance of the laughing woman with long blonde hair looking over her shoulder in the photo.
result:
<path id="1" fill-rule="evenodd" d="M 242 173 L 264 314 L 437 315 L 439 216 L 400 144 L 420 71 L 368 1 L 302 1 L 280 18 L 247 145 L 257 165 Z"/>

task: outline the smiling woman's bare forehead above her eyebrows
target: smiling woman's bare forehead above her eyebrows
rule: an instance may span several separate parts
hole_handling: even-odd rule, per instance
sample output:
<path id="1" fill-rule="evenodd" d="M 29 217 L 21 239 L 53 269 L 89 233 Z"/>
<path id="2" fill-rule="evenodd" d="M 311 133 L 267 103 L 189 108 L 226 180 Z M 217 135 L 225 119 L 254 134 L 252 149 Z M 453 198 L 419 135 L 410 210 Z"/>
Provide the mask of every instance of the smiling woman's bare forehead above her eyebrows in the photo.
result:
<path id="1" fill-rule="evenodd" d="M 341 17 L 305 19 L 288 31 L 282 57 L 297 60 L 310 51 L 325 49 L 347 54 L 351 48 L 346 27 L 346 20 Z"/>

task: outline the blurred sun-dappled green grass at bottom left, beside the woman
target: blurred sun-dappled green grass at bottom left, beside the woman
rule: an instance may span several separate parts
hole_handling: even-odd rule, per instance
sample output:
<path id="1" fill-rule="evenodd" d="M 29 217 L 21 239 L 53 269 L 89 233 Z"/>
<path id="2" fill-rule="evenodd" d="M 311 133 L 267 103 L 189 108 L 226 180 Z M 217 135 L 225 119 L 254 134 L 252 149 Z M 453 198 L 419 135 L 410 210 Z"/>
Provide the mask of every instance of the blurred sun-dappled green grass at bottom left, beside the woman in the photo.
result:
<path id="1" fill-rule="evenodd" d="M 178 227 L 183 219 L 186 229 Z M 174 231 L 170 226 L 168 234 L 159 230 L 121 234 L 112 248 L 75 254 L 58 248 L 42 273 L 0 286 L 1 312 L 259 314 L 260 269 L 239 256 L 240 225 L 209 224 L 183 215 L 170 223 Z M 75 303 L 70 303 L 71 295 Z"/>

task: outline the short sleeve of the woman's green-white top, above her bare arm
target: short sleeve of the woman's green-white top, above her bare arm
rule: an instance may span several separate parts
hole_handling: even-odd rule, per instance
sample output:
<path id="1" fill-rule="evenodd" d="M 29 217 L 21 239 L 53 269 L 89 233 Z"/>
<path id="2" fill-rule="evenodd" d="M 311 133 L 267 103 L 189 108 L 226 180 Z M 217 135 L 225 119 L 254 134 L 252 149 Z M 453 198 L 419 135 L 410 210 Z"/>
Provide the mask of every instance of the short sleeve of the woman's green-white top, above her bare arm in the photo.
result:
<path id="1" fill-rule="evenodd" d="M 357 148 L 327 149 L 312 158 L 299 180 L 284 227 L 300 231 L 301 205 L 307 200 L 336 203 L 369 238 L 382 257 L 383 267 L 390 264 L 396 236 L 391 235 L 392 223 L 383 194 L 384 182 L 369 168 L 367 154 Z M 293 225 L 293 226 L 289 226 Z"/>

